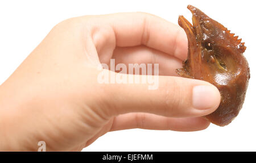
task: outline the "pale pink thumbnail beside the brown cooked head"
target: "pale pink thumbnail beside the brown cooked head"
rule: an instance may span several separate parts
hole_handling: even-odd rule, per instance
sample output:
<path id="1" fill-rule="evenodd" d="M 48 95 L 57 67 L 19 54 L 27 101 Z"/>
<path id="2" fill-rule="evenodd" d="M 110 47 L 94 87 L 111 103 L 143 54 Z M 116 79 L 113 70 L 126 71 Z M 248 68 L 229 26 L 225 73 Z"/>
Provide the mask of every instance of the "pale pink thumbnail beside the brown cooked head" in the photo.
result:
<path id="1" fill-rule="evenodd" d="M 220 93 L 214 86 L 195 86 L 193 87 L 192 103 L 194 108 L 200 110 L 217 107 L 220 103 Z"/>

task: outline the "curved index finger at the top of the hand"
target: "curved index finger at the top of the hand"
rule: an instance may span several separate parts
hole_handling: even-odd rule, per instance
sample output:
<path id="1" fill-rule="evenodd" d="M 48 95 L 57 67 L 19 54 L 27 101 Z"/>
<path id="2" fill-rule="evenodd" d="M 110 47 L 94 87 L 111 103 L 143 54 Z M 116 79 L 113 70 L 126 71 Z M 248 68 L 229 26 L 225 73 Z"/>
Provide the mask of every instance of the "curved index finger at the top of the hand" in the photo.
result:
<path id="1" fill-rule="evenodd" d="M 102 15 L 100 19 L 102 26 L 108 24 L 113 28 L 111 36 L 118 47 L 146 45 L 181 60 L 187 56 L 187 36 L 183 29 L 158 16 L 132 12 Z"/>

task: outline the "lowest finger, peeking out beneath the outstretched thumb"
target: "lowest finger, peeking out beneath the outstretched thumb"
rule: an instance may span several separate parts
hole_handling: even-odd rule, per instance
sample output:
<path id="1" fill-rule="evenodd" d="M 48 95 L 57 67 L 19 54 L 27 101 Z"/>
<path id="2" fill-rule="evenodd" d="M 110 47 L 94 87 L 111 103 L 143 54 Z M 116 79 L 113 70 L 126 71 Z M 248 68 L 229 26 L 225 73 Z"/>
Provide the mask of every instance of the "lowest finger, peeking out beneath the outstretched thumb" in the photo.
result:
<path id="1" fill-rule="evenodd" d="M 122 129 L 142 128 L 172 131 L 199 131 L 209 126 L 210 122 L 204 118 L 168 118 L 148 113 L 128 113 L 114 118 L 110 131 Z"/>

